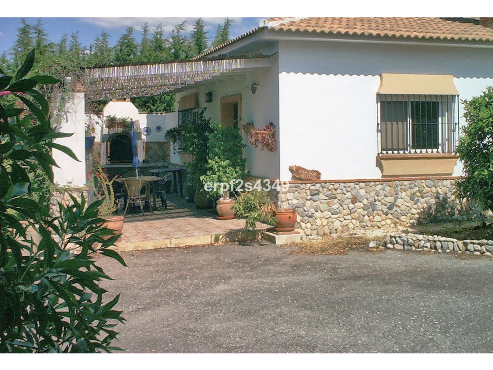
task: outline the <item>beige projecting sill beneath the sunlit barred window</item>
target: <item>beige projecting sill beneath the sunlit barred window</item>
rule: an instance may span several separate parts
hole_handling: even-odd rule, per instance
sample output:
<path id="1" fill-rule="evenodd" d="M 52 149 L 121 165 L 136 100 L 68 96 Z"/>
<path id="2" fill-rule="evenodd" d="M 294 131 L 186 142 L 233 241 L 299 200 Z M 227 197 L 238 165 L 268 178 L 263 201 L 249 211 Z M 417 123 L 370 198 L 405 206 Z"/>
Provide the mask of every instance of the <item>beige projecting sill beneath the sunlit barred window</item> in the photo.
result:
<path id="1" fill-rule="evenodd" d="M 453 153 L 381 154 L 377 167 L 382 177 L 451 176 L 457 159 Z"/>

